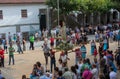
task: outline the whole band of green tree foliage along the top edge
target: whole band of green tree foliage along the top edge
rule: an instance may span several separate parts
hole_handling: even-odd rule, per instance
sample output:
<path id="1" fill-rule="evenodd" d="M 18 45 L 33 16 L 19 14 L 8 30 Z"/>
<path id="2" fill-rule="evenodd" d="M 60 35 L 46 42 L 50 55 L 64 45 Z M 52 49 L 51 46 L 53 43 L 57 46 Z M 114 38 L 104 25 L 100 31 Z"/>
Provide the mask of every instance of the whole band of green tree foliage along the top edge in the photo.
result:
<path id="1" fill-rule="evenodd" d="M 73 10 L 87 12 L 106 12 L 111 8 L 120 10 L 119 0 L 59 0 L 60 12 L 69 13 Z M 57 0 L 47 0 L 47 4 L 57 9 Z"/>

